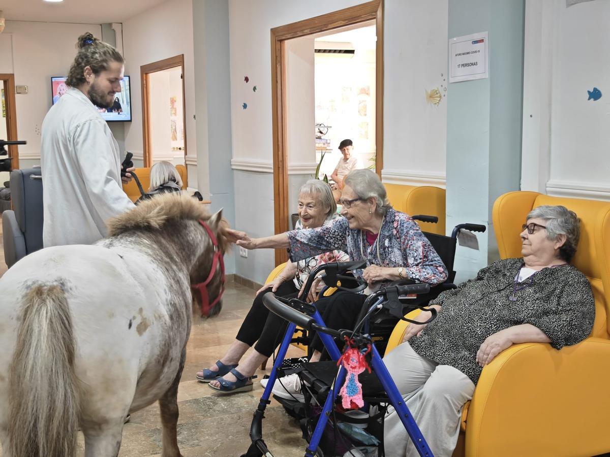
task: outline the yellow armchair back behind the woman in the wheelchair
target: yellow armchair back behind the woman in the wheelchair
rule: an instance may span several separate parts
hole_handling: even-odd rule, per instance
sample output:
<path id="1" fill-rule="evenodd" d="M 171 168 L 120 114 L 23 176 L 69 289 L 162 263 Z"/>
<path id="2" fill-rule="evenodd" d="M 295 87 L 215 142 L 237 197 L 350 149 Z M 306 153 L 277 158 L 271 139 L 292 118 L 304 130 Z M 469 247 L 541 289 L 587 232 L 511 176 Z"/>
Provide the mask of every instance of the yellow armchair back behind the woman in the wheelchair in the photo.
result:
<path id="1" fill-rule="evenodd" d="M 437 216 L 439 222 L 417 221 L 424 232 L 445 235 L 445 190 L 433 186 L 404 186 L 401 184 L 384 184 L 387 197 L 395 210 L 403 211 L 409 216 L 426 214 Z"/>

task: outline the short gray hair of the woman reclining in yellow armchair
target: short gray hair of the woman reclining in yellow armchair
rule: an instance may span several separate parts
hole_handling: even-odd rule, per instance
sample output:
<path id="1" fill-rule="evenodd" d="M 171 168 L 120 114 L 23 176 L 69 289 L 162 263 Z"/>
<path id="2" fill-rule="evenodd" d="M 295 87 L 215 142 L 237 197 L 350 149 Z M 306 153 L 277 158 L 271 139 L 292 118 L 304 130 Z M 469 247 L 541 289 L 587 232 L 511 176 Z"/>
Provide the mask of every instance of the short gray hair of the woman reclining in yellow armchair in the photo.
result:
<path id="1" fill-rule="evenodd" d="M 559 248 L 559 257 L 566 262 L 572 260 L 580 238 L 580 219 L 574 211 L 561 205 L 542 205 L 529 211 L 529 219 L 544 219 L 547 225 L 547 239 L 556 241 L 565 235 L 565 243 Z"/>

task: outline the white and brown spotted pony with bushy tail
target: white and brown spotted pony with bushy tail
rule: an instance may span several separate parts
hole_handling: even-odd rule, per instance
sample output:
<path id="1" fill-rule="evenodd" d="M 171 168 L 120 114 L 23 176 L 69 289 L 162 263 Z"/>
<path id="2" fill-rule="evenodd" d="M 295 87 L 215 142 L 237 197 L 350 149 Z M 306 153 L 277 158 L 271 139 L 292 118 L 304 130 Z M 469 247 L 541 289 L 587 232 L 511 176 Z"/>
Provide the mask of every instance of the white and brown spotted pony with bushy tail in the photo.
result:
<path id="1" fill-rule="evenodd" d="M 191 285 L 210 274 L 221 214 L 167 194 L 110 221 L 93 246 L 32 253 L 0 279 L 0 439 L 5 457 L 117 456 L 123 420 L 159 400 L 163 456 L 179 456 L 178 383 Z M 221 293 L 220 269 L 209 284 Z"/>

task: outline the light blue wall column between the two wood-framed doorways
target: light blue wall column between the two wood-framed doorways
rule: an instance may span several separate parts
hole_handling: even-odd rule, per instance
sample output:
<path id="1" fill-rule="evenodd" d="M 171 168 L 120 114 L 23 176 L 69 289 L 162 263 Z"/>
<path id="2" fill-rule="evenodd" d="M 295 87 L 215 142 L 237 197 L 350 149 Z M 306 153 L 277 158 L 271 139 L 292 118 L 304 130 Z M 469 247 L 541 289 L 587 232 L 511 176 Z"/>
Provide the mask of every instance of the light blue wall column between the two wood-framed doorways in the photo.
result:
<path id="1" fill-rule="evenodd" d="M 207 119 L 198 129 L 198 151 L 209 151 L 210 211 L 223 208 L 235 227 L 235 191 L 231 169 L 231 87 L 229 73 L 229 7 L 226 1 L 193 1 L 195 97 L 197 119 Z M 202 72 L 201 70 L 204 69 Z M 207 144 L 206 144 L 207 143 Z M 235 255 L 225 256 L 228 274 L 235 272 Z"/>

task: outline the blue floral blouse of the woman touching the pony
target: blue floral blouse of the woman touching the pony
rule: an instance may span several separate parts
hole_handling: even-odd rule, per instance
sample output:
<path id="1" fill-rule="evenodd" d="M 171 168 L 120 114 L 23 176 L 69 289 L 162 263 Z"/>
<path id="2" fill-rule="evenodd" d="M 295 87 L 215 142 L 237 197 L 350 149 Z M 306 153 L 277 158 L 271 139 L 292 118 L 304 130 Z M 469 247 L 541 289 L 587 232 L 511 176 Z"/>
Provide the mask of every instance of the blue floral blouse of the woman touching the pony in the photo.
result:
<path id="1" fill-rule="evenodd" d="M 376 241 L 370 245 L 363 230 L 350 228 L 340 217 L 329 225 L 287 232 L 290 259 L 297 261 L 323 252 L 342 250 L 351 261 L 367 265 L 404 267 L 404 277 L 436 285 L 447 278 L 447 269 L 426 235 L 407 214 L 390 208 Z M 362 278 L 362 269 L 353 271 Z"/>

